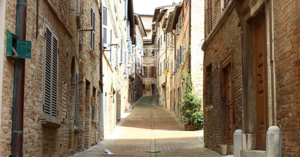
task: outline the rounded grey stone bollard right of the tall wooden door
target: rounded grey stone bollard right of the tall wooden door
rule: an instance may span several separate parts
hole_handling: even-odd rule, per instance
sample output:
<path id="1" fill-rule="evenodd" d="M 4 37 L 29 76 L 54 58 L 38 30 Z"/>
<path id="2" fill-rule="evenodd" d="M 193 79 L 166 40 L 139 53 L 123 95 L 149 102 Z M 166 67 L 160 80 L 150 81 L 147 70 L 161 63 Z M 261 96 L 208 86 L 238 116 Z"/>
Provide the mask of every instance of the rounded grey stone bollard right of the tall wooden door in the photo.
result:
<path id="1" fill-rule="evenodd" d="M 277 126 L 270 126 L 266 137 L 267 157 L 282 156 L 282 132 Z"/>

